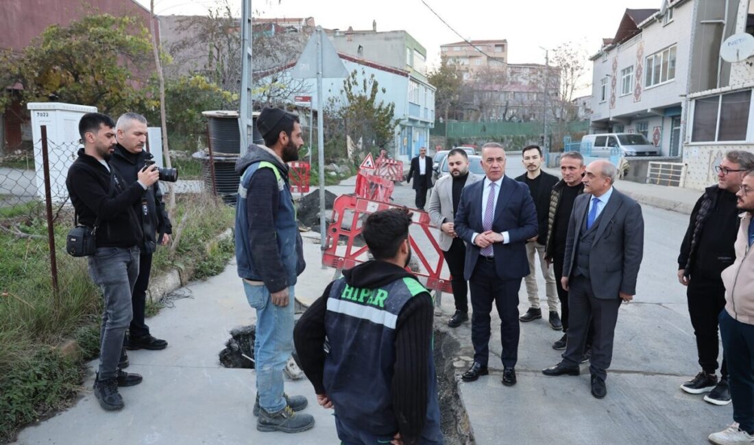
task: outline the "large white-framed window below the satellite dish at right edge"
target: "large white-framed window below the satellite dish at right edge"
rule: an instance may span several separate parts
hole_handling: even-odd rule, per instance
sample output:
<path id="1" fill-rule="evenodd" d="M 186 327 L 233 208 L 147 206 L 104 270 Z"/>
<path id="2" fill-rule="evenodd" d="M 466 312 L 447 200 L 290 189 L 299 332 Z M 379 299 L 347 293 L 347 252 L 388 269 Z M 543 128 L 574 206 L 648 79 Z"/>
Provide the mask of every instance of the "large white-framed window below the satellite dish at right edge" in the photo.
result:
<path id="1" fill-rule="evenodd" d="M 694 100 L 691 142 L 746 141 L 752 91 Z"/>

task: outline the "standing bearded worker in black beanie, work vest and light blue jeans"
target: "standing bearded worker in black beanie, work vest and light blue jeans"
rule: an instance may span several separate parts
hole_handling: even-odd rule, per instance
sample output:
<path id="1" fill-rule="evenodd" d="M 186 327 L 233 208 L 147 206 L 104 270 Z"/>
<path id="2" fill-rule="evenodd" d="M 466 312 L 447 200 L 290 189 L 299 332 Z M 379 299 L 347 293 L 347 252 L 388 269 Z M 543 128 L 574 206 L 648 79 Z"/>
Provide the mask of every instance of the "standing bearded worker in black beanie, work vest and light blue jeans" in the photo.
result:
<path id="1" fill-rule="evenodd" d="M 235 251 L 238 276 L 249 305 L 256 309 L 256 403 L 259 431 L 296 433 L 314 426 L 303 396 L 288 396 L 283 369 L 293 352 L 293 300 L 296 277 L 305 267 L 296 224 L 287 162 L 304 145 L 299 118 L 265 108 L 256 126 L 266 146 L 250 145 L 238 160 L 241 175 L 236 205 Z"/>

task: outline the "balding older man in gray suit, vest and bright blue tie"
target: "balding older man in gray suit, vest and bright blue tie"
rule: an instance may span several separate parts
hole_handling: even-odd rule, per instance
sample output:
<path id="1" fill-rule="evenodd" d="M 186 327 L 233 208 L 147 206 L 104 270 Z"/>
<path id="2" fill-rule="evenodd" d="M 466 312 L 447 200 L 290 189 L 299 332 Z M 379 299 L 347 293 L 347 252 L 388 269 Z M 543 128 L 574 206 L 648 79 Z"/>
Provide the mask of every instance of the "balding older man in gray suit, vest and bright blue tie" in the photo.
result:
<path id="1" fill-rule="evenodd" d="M 562 361 L 542 370 L 546 376 L 578 376 L 590 320 L 594 340 L 591 390 L 607 394 L 615 323 L 621 302 L 633 300 L 644 250 L 642 208 L 613 188 L 615 166 L 596 160 L 587 166 L 584 194 L 576 198 L 566 236 L 560 282 L 569 292 L 569 330 Z"/>

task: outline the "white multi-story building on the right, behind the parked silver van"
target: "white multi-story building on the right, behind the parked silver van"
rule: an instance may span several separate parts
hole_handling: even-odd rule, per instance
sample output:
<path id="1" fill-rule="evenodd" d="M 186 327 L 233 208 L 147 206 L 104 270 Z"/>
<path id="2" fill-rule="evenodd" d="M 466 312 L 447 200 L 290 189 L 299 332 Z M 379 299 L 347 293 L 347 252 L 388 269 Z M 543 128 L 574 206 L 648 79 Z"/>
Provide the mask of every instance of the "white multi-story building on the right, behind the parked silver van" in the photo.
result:
<path id="1" fill-rule="evenodd" d="M 726 11 L 727 7 L 727 11 Z M 752 148 L 751 59 L 725 62 L 720 47 L 754 35 L 749 0 L 661 0 L 627 9 L 615 38 L 591 57 L 592 133 L 642 133 L 703 189 L 726 150 Z"/>

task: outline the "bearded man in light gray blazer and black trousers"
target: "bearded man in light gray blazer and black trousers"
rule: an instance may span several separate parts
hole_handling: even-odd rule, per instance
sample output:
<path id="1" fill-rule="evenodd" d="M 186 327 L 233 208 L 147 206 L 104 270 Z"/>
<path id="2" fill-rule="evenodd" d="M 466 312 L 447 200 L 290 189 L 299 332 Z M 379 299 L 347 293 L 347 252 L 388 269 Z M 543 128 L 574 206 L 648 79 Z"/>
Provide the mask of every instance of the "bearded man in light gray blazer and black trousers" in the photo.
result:
<path id="1" fill-rule="evenodd" d="M 464 262 L 466 261 L 466 245 L 453 227 L 455 224 L 455 209 L 461 201 L 461 190 L 469 184 L 480 180 L 477 175 L 469 172 L 469 157 L 461 148 L 453 148 L 448 153 L 449 175 L 438 179 L 429 197 L 427 210 L 429 218 L 440 227 L 440 248 L 448 264 L 452 279 L 455 300 L 455 313 L 450 318 L 448 326 L 458 328 L 461 323 L 469 319 L 468 315 L 468 286 L 464 279 Z"/>

